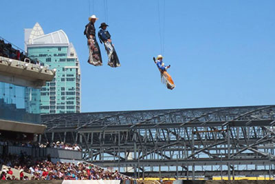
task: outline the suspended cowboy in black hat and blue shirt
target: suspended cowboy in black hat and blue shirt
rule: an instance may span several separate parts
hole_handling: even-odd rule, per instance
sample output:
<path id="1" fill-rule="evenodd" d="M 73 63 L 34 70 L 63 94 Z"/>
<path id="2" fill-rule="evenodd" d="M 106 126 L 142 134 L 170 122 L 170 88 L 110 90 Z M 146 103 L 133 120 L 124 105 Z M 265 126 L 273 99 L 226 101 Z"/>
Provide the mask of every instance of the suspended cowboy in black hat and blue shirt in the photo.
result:
<path id="1" fill-rule="evenodd" d="M 100 43 L 104 43 L 105 50 L 108 55 L 108 65 L 111 67 L 118 67 L 120 66 L 120 60 L 118 59 L 118 54 L 115 52 L 115 48 L 113 47 L 112 41 L 111 41 L 111 34 L 109 31 L 107 31 L 107 25 L 106 23 L 101 23 L 101 28 L 98 31 L 98 37 L 100 40 Z"/>

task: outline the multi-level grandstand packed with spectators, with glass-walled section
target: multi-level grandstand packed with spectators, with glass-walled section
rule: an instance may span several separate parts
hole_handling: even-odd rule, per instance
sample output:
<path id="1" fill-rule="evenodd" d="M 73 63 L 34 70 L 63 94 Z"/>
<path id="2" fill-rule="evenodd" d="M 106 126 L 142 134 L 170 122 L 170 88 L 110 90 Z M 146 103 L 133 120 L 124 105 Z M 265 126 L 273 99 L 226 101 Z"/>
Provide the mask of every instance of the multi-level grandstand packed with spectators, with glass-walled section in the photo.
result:
<path id="1" fill-rule="evenodd" d="M 127 180 L 83 161 L 76 143 L 41 143 L 40 88 L 56 70 L 0 37 L 0 180 Z"/>

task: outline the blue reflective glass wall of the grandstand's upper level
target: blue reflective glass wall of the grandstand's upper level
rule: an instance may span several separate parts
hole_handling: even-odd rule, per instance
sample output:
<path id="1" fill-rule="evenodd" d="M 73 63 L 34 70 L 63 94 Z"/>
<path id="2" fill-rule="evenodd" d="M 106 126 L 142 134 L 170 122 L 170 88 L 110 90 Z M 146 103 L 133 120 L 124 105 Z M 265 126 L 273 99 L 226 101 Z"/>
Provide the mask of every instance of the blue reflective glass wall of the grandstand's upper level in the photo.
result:
<path id="1" fill-rule="evenodd" d="M 40 90 L 0 82 L 0 119 L 40 123 Z"/>

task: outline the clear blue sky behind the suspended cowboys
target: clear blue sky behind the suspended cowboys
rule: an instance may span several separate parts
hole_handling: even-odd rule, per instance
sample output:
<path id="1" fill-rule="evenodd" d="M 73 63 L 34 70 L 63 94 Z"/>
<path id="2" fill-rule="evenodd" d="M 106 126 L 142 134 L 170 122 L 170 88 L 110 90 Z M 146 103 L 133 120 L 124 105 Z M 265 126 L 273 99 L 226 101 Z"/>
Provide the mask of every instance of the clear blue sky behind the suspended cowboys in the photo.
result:
<path id="1" fill-rule="evenodd" d="M 107 8 L 104 0 L 0 4 L 0 36 L 20 48 L 23 29 L 36 22 L 45 34 L 66 32 L 80 60 L 82 112 L 275 104 L 273 0 L 107 0 Z M 91 14 L 99 17 L 97 31 L 101 22 L 110 25 L 120 68 L 107 65 L 102 45 L 104 65 L 87 63 L 83 30 Z M 176 85 L 172 91 L 152 60 L 160 41 Z"/>

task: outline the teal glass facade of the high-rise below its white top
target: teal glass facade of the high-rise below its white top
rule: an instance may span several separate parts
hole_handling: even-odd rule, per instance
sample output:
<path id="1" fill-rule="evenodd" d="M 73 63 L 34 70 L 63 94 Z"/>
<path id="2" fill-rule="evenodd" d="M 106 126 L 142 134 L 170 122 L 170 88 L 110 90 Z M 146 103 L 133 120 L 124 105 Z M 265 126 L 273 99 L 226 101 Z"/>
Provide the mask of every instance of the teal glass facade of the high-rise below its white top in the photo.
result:
<path id="1" fill-rule="evenodd" d="M 79 61 L 68 49 L 58 45 L 28 47 L 29 57 L 56 68 L 54 80 L 41 88 L 41 114 L 80 112 Z"/>

